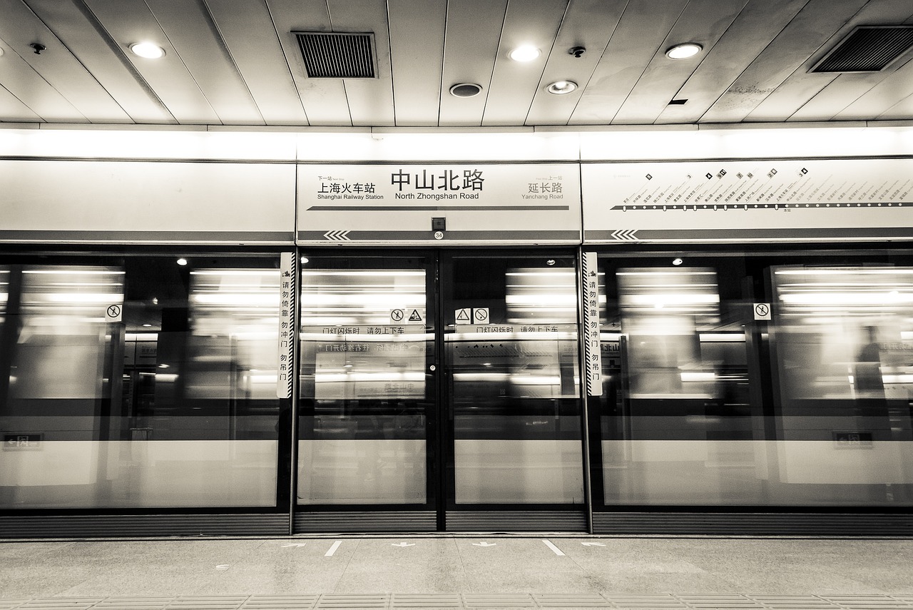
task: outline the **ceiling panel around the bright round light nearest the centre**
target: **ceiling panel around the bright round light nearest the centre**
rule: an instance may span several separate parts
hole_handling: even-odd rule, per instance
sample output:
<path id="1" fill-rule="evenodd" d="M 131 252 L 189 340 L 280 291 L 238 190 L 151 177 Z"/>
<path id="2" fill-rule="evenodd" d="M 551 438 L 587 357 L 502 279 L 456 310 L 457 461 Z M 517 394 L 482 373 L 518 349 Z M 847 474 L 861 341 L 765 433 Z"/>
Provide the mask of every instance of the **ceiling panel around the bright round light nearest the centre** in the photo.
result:
<path id="1" fill-rule="evenodd" d="M 567 2 L 560 0 L 508 2 L 485 114 L 482 116 L 483 125 L 514 126 L 526 122 L 566 6 Z M 521 63 L 507 57 L 510 49 L 526 44 L 540 48 L 538 59 Z"/>

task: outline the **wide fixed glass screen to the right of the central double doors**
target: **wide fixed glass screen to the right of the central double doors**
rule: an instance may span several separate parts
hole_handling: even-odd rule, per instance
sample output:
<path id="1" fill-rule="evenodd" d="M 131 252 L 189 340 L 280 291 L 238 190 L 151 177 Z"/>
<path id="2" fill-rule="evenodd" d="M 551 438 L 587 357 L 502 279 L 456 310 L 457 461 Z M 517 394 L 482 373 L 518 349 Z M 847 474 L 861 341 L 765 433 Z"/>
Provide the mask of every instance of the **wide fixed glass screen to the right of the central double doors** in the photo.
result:
<path id="1" fill-rule="evenodd" d="M 605 505 L 913 503 L 913 268 L 658 260 L 602 260 Z"/>

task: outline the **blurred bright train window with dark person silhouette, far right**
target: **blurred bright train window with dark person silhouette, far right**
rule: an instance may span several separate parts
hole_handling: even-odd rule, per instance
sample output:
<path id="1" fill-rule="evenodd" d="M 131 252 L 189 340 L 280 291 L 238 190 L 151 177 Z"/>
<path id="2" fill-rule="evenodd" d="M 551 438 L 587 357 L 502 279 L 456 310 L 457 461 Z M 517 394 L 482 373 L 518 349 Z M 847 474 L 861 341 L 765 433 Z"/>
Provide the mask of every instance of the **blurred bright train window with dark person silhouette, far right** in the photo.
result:
<path id="1" fill-rule="evenodd" d="M 777 268 L 774 283 L 785 400 L 906 396 L 913 269 Z"/>

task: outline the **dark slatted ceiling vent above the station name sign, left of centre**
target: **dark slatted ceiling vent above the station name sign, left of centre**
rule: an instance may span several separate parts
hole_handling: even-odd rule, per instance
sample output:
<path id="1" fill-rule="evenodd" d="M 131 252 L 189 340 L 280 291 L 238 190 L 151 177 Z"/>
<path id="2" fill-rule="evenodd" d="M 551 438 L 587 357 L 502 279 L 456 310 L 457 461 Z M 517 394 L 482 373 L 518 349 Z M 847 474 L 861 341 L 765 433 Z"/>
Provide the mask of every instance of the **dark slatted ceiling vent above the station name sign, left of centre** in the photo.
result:
<path id="1" fill-rule="evenodd" d="M 374 35 L 292 32 L 298 38 L 309 79 L 377 78 Z"/>

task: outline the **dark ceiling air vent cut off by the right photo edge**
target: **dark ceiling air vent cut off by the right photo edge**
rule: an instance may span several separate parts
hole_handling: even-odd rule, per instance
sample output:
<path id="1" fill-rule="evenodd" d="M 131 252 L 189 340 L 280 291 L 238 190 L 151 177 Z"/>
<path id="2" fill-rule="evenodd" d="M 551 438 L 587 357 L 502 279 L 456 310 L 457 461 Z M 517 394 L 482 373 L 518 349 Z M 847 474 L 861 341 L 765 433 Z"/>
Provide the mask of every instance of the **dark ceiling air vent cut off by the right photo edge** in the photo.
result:
<path id="1" fill-rule="evenodd" d="M 812 72 L 877 72 L 913 47 L 913 26 L 859 26 Z"/>

